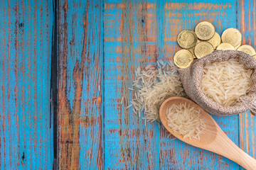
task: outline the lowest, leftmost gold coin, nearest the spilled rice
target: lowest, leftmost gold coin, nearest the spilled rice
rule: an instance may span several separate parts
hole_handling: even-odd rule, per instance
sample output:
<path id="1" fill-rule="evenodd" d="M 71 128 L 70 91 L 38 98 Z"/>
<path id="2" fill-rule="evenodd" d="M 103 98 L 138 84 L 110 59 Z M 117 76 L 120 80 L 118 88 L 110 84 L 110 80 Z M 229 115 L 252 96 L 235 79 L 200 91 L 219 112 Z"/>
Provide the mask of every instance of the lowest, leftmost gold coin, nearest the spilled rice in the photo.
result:
<path id="1" fill-rule="evenodd" d="M 191 62 L 193 62 L 193 55 L 188 50 L 179 50 L 174 55 L 174 63 L 179 68 L 189 67 Z"/>

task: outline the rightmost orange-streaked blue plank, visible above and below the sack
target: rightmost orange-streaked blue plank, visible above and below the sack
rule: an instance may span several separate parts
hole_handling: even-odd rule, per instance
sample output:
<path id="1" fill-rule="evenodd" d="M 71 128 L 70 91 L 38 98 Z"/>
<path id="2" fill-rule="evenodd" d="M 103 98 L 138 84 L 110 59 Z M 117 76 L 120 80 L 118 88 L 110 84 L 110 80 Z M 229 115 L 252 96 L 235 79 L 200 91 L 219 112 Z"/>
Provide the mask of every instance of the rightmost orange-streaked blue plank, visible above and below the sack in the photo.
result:
<path id="1" fill-rule="evenodd" d="M 256 2 L 238 1 L 238 28 L 242 33 L 242 44 L 256 47 Z M 256 117 L 248 113 L 240 114 L 240 147 L 252 157 L 256 157 Z"/>

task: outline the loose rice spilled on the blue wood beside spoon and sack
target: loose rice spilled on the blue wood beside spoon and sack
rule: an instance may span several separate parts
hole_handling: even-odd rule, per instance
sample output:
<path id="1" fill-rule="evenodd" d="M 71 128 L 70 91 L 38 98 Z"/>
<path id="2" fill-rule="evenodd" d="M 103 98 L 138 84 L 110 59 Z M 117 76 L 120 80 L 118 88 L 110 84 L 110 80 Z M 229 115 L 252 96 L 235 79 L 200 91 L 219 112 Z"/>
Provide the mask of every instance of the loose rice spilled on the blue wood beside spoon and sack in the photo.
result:
<path id="1" fill-rule="evenodd" d="M 135 74 L 137 78 L 132 84 L 133 88 L 129 88 L 134 94 L 127 108 L 132 107 L 139 116 L 142 112 L 146 121 L 160 120 L 159 108 L 166 98 L 186 96 L 174 62 L 159 60 L 157 66 L 149 64 L 144 69 L 139 67 Z"/>

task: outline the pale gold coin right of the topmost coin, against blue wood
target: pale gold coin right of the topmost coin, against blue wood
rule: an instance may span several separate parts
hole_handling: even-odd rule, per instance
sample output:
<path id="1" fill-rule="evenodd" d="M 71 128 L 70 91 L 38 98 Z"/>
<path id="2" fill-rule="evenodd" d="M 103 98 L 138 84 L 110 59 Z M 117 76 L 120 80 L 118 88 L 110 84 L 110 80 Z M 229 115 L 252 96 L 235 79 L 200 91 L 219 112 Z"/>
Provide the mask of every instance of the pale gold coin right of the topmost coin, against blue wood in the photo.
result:
<path id="1" fill-rule="evenodd" d="M 238 29 L 228 28 L 221 35 L 221 40 L 230 43 L 233 47 L 237 47 L 242 41 L 242 34 Z"/>

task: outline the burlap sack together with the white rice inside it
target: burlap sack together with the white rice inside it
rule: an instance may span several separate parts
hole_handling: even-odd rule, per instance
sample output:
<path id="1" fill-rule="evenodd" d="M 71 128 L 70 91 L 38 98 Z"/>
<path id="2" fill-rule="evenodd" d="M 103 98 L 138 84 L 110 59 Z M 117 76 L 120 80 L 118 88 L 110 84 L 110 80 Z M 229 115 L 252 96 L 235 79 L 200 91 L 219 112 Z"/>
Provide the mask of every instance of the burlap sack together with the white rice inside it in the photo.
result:
<path id="1" fill-rule="evenodd" d="M 236 50 L 215 51 L 178 69 L 186 94 L 208 113 L 227 116 L 256 108 L 256 60 Z"/>

